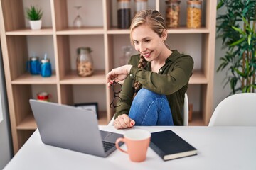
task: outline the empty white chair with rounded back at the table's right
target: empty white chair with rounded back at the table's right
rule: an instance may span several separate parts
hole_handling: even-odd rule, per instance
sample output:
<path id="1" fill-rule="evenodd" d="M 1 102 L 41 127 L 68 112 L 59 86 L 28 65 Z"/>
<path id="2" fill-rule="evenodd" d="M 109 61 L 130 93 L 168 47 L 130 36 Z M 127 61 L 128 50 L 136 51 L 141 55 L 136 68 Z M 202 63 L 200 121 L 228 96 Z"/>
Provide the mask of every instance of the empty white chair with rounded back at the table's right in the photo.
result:
<path id="1" fill-rule="evenodd" d="M 256 94 L 233 94 L 213 111 L 209 126 L 256 126 Z"/>

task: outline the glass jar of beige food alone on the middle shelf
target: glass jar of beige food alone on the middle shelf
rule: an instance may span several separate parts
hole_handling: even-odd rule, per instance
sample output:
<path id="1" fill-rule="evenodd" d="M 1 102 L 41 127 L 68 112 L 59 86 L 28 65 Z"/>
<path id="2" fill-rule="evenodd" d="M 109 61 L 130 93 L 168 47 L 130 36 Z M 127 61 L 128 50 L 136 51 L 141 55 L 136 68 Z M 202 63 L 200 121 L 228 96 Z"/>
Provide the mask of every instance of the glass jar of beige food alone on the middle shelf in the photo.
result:
<path id="1" fill-rule="evenodd" d="M 79 47 L 77 49 L 77 72 L 80 77 L 87 77 L 93 73 L 93 62 L 90 47 Z"/>

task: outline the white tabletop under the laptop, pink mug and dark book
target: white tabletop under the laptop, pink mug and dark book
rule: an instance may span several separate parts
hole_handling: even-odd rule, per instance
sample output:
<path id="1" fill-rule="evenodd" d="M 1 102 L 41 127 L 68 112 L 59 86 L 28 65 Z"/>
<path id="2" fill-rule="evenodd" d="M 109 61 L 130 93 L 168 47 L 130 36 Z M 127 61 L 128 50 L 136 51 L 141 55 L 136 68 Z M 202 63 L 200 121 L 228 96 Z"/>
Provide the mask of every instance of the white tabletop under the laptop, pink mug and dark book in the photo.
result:
<path id="1" fill-rule="evenodd" d="M 198 155 L 164 162 L 149 148 L 145 162 L 130 162 L 114 151 L 95 157 L 43 144 L 38 130 L 21 147 L 5 169 L 256 169 L 256 127 L 134 127 L 157 132 L 171 129 L 198 149 Z M 124 133 L 113 126 L 102 130 Z M 125 147 L 124 145 L 122 147 Z"/>

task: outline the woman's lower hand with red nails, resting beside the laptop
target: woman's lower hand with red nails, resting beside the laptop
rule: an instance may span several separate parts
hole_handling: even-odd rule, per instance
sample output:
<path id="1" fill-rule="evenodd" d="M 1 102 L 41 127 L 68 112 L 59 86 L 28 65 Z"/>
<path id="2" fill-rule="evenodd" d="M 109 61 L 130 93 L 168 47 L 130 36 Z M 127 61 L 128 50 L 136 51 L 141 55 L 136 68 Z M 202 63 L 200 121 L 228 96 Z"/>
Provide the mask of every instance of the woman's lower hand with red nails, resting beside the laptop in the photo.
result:
<path id="1" fill-rule="evenodd" d="M 129 118 L 127 114 L 119 115 L 114 120 L 114 128 L 116 129 L 132 128 L 134 125 L 135 121 Z"/>

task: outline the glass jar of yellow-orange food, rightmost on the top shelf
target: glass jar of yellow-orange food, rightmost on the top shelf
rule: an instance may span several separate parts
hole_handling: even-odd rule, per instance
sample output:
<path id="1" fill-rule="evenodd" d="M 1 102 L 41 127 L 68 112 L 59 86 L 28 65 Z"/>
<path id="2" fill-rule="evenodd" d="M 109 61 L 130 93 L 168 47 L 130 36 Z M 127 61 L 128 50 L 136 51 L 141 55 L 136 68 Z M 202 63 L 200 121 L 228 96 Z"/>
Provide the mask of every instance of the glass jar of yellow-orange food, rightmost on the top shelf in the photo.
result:
<path id="1" fill-rule="evenodd" d="M 201 27 L 201 11 L 202 1 L 189 0 L 187 1 L 187 28 Z"/>

